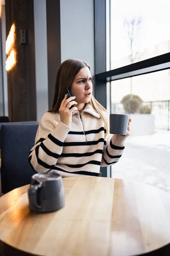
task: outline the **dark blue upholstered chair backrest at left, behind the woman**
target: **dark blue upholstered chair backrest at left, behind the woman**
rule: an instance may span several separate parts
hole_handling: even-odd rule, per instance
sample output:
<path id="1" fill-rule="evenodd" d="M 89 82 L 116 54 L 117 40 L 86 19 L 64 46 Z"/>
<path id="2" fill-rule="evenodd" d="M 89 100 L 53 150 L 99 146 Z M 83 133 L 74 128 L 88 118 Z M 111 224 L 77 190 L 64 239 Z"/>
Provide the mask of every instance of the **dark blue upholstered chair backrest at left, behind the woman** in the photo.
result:
<path id="1" fill-rule="evenodd" d="M 3 124 L 1 127 L 1 186 L 2 193 L 29 184 L 35 173 L 28 163 L 34 146 L 38 124 Z"/>

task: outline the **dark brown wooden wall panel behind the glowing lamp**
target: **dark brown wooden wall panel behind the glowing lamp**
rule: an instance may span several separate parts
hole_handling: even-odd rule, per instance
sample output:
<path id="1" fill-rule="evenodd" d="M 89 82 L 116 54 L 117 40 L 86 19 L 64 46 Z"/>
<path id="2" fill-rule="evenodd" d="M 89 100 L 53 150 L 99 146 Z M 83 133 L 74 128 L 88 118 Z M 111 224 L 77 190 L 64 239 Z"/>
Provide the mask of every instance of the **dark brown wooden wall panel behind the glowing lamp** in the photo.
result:
<path id="1" fill-rule="evenodd" d="M 8 113 L 12 122 L 36 120 L 33 0 L 6 0 L 6 35 L 15 23 L 16 65 L 8 71 Z M 26 29 L 26 44 L 20 44 Z"/>

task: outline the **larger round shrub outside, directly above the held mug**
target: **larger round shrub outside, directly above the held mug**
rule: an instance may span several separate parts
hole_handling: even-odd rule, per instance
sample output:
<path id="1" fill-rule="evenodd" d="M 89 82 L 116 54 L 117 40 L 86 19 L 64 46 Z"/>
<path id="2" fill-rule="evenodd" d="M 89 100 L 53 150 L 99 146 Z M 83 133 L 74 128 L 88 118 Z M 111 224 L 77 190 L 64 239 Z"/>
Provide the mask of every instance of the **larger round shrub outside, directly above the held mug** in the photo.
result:
<path id="1" fill-rule="evenodd" d="M 131 114 L 138 112 L 142 102 L 142 99 L 134 94 L 127 94 L 121 100 L 125 112 Z"/>

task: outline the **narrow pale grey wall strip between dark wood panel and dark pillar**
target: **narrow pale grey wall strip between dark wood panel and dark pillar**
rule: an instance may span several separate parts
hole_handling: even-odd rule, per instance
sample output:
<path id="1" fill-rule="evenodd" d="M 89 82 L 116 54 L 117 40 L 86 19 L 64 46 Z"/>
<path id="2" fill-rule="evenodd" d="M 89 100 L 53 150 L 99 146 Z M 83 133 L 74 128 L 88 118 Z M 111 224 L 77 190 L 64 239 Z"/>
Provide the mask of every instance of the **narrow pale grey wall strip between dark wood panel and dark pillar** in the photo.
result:
<path id="1" fill-rule="evenodd" d="M 37 121 L 48 111 L 46 0 L 34 0 Z"/>

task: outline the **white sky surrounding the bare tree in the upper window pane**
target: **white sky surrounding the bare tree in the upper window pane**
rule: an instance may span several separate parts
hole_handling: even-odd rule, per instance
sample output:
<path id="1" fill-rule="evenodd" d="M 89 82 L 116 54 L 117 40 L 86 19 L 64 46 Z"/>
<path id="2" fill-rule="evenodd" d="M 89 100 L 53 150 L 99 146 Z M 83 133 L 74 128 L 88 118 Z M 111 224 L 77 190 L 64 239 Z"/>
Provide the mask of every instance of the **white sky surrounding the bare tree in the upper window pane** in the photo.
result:
<path id="1" fill-rule="evenodd" d="M 124 18 L 139 16 L 142 23 L 136 37 L 136 51 L 170 40 L 170 0 L 111 0 L 112 61 L 130 54 Z"/>

